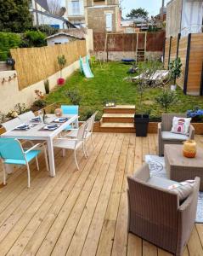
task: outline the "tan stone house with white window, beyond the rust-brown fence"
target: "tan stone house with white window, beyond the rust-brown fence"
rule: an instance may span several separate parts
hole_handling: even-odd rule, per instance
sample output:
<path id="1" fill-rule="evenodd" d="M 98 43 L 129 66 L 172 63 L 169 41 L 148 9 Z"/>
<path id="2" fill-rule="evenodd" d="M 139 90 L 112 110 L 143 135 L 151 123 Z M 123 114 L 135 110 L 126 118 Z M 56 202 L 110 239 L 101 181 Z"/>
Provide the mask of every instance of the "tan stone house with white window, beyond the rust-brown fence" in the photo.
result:
<path id="1" fill-rule="evenodd" d="M 121 31 L 119 0 L 85 0 L 87 26 L 93 32 Z"/>

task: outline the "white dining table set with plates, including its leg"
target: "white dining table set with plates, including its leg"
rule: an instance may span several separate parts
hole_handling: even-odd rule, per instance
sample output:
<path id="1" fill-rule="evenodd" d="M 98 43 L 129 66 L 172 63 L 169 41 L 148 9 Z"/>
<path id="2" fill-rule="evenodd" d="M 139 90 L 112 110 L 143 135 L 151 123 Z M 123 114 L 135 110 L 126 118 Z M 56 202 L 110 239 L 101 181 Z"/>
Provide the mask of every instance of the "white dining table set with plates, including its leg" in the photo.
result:
<path id="1" fill-rule="evenodd" d="M 64 114 L 63 117 L 68 118 L 65 123 L 60 123 L 59 127 L 55 129 L 54 131 L 44 130 L 43 127 L 48 124 L 54 124 L 54 119 L 57 119 L 57 117 L 54 114 L 48 114 L 46 119 L 46 124 L 44 123 L 36 123 L 33 127 L 31 127 L 29 130 L 25 131 L 6 131 L 1 135 L 1 137 L 13 137 L 17 139 L 22 140 L 31 140 L 31 141 L 46 141 L 48 144 L 48 161 L 49 161 L 49 171 L 50 176 L 55 176 L 55 163 L 54 163 L 54 137 L 58 137 L 59 133 L 61 131 L 64 131 L 65 128 L 76 119 L 78 119 L 78 115 L 75 114 Z M 26 122 L 25 122 L 26 123 Z M 29 120 L 27 121 L 29 123 Z M 33 123 L 35 124 L 35 123 Z"/>

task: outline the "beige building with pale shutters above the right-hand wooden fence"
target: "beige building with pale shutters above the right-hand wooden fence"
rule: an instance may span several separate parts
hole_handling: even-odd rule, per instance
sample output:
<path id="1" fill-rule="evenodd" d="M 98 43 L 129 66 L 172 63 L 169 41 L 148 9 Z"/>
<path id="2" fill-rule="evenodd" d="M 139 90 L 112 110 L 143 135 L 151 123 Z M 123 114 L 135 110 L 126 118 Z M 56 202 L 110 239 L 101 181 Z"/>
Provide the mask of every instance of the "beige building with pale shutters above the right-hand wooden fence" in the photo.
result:
<path id="1" fill-rule="evenodd" d="M 172 0 L 166 8 L 166 38 L 201 33 L 203 0 Z"/>

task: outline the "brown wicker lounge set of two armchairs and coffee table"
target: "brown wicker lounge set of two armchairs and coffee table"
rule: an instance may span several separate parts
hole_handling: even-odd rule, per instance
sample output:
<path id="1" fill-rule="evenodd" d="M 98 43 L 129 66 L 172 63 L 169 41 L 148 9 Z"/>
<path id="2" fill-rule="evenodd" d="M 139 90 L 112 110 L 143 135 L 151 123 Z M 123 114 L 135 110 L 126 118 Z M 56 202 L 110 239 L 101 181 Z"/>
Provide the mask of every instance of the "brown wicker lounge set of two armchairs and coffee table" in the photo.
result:
<path id="1" fill-rule="evenodd" d="M 168 179 L 150 176 L 148 164 L 127 177 L 128 231 L 180 256 L 195 224 L 199 189 L 203 190 L 203 150 L 197 148 L 193 159 L 183 156 L 181 144 L 194 139 L 195 129 L 189 125 L 187 135 L 172 133 L 174 117 L 186 118 L 163 114 L 158 127 L 158 152 L 164 155 Z"/>

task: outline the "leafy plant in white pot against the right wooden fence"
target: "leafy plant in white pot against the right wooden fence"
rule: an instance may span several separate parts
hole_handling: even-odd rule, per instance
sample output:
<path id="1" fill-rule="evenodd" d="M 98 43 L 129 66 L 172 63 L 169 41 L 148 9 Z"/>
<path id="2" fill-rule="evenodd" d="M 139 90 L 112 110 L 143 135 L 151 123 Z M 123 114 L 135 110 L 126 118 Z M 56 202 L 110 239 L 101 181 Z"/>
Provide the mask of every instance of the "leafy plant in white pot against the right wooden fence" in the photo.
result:
<path id="1" fill-rule="evenodd" d="M 179 79 L 181 76 L 182 66 L 180 57 L 169 64 L 170 80 L 172 81 L 171 90 L 176 90 L 176 79 Z"/>

